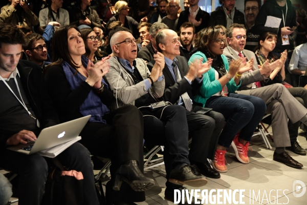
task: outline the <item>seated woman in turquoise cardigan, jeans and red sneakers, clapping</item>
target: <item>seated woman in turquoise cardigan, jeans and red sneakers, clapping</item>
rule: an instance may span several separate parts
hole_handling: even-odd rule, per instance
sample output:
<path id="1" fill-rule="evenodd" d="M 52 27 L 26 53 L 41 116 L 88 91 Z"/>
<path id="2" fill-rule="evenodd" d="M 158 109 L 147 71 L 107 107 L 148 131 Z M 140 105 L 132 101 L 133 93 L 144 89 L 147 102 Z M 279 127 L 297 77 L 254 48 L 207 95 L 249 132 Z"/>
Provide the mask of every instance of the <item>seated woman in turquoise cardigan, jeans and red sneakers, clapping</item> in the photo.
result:
<path id="1" fill-rule="evenodd" d="M 203 59 L 203 62 L 213 59 L 212 68 L 203 75 L 203 85 L 194 100 L 222 113 L 226 119 L 213 162 L 218 172 L 227 172 L 225 153 L 230 145 L 240 162 L 249 163 L 249 141 L 266 111 L 262 99 L 235 93 L 240 87 L 242 74 L 252 68 L 253 60 L 244 63 L 239 58 L 229 66 L 227 57 L 223 55 L 225 40 L 225 30 L 221 26 L 202 29 L 194 39 L 198 51 L 189 60 L 190 63 L 195 59 Z"/>

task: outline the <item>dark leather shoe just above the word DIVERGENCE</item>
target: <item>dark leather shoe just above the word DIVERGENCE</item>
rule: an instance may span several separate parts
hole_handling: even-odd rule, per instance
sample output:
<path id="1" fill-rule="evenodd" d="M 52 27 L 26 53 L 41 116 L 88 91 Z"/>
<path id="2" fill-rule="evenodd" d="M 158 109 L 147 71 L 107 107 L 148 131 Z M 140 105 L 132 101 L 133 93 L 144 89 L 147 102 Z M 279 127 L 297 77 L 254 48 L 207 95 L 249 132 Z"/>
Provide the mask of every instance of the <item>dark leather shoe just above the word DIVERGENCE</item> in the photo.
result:
<path id="1" fill-rule="evenodd" d="M 194 170 L 192 171 L 191 166 L 186 164 L 172 170 L 168 181 L 176 185 L 188 185 L 191 187 L 202 187 L 208 183 L 205 176 Z"/>

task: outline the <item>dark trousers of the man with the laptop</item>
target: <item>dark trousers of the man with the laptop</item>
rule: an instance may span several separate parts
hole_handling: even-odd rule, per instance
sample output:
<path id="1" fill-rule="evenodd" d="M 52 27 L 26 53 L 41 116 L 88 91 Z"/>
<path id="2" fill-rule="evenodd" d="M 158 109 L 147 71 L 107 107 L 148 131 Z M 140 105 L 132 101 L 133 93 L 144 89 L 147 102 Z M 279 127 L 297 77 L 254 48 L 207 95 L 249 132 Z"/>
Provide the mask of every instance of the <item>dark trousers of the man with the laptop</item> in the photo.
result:
<path id="1" fill-rule="evenodd" d="M 90 152 L 76 142 L 56 157 L 63 166 L 83 174 L 84 204 L 99 205 L 95 191 Z M 21 154 L 11 150 L 1 152 L 0 167 L 18 175 L 18 204 L 39 205 L 45 190 L 49 158 L 39 154 Z"/>

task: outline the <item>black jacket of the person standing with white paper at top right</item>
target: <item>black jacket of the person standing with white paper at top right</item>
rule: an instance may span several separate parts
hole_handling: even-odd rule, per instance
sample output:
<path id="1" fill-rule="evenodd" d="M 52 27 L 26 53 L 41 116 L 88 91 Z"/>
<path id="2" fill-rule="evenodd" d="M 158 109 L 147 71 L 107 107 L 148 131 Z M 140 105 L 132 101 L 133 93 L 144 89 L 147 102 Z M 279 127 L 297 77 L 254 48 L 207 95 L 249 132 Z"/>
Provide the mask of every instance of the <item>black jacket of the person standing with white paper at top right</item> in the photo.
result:
<path id="1" fill-rule="evenodd" d="M 260 35 L 264 32 L 273 32 L 277 34 L 277 38 L 278 38 L 277 44 L 273 52 L 280 53 L 280 52 L 283 52 L 285 49 L 294 48 L 294 41 L 297 35 L 296 30 L 289 36 L 290 45 L 286 45 L 286 46 L 281 45 L 282 44 L 281 33 L 280 33 L 281 28 L 284 26 L 289 26 L 290 28 L 296 26 L 295 8 L 292 6 L 290 0 L 287 0 L 287 5 L 288 5 L 288 12 L 287 12 L 287 17 L 285 19 L 286 25 L 283 25 L 282 10 L 281 10 L 281 7 L 276 3 L 276 0 L 267 0 L 266 3 L 261 6 L 261 9 L 256 18 L 254 27 Z M 279 28 L 265 27 L 265 24 L 267 22 L 267 16 L 274 16 L 277 18 L 281 18 Z"/>

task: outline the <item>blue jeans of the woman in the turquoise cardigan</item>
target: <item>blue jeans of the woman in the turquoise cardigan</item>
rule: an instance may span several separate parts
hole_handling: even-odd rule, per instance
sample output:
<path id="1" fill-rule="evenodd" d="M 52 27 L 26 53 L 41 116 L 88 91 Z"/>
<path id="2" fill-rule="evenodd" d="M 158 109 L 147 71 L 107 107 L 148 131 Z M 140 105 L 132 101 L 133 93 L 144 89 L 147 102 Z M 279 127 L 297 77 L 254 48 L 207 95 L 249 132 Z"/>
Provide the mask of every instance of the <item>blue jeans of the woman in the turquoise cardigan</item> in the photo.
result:
<path id="1" fill-rule="evenodd" d="M 229 97 L 208 99 L 206 107 L 224 115 L 226 125 L 218 139 L 218 145 L 229 148 L 235 135 L 250 141 L 251 137 L 266 112 L 266 104 L 259 97 L 230 93 Z"/>

